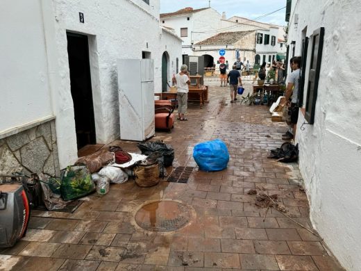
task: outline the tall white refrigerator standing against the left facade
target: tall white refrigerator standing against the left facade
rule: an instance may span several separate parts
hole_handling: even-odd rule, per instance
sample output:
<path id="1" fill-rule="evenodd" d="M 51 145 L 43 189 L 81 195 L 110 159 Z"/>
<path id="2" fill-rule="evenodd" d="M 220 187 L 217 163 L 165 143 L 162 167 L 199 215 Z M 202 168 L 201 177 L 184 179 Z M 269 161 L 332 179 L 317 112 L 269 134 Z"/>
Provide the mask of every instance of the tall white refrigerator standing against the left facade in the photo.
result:
<path id="1" fill-rule="evenodd" d="M 154 64 L 152 59 L 118 59 L 120 139 L 154 136 Z"/>

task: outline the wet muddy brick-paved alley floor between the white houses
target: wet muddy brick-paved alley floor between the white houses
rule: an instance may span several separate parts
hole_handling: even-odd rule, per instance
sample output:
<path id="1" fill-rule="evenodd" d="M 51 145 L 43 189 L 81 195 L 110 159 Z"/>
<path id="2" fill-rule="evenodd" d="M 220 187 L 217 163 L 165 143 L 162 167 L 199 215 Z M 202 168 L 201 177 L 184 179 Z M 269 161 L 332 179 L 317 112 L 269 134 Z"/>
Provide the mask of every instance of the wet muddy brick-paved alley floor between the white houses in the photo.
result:
<path id="1" fill-rule="evenodd" d="M 190 104 L 188 121 L 177 120 L 171 133 L 152 139 L 174 147 L 174 167 L 194 167 L 187 183 L 165 179 L 140 188 L 128 181 L 103 197 L 91 195 L 74 213 L 33 211 L 26 238 L 0 252 L 0 270 L 343 270 L 307 230 L 298 165 L 267 159 L 269 149 L 283 143 L 285 124 L 271 122 L 267 106 L 230 104 L 229 88 L 208 83 L 210 103 L 203 109 Z M 193 147 L 216 138 L 228 146 L 228 168 L 201 172 Z M 139 151 L 135 142 L 114 144 Z M 277 194 L 287 215 L 307 229 L 256 206 L 249 190 Z M 161 199 L 156 218 L 162 221 L 149 215 L 152 208 L 140 210 Z M 142 229 L 155 224 L 180 229 Z"/>

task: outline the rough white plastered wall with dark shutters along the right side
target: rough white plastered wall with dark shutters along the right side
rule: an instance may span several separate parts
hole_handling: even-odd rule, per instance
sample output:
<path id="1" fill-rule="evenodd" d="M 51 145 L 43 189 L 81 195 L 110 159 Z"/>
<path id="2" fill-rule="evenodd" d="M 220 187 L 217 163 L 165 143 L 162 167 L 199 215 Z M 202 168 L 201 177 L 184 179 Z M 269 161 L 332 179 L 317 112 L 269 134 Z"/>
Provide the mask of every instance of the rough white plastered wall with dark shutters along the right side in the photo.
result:
<path id="1" fill-rule="evenodd" d="M 296 140 L 312 223 L 346 270 L 361 267 L 361 78 L 354 61 L 361 58 L 360 14 L 358 0 L 292 1 L 288 38 L 301 55 L 302 31 L 310 37 L 325 28 L 314 124 L 301 131 L 300 113 Z M 304 97 L 308 72 L 305 82 Z"/>

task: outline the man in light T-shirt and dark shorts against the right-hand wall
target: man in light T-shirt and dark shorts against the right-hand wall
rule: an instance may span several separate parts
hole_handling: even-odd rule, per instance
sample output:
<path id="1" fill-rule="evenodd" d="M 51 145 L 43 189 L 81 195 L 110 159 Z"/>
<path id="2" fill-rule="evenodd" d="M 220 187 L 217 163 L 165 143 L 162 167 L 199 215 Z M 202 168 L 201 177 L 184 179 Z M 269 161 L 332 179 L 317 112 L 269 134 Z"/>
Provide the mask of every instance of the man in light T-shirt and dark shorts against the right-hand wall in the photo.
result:
<path id="1" fill-rule="evenodd" d="M 283 101 L 283 106 L 288 106 L 288 113 L 291 114 L 291 121 L 287 122 L 288 131 L 282 135 L 283 140 L 293 139 L 296 132 L 296 124 L 297 120 L 299 119 L 299 105 L 297 103 L 297 99 L 299 95 L 299 81 L 301 76 L 300 67 L 301 56 L 296 56 L 292 58 L 292 73 L 289 74 L 288 77 L 285 101 Z"/>

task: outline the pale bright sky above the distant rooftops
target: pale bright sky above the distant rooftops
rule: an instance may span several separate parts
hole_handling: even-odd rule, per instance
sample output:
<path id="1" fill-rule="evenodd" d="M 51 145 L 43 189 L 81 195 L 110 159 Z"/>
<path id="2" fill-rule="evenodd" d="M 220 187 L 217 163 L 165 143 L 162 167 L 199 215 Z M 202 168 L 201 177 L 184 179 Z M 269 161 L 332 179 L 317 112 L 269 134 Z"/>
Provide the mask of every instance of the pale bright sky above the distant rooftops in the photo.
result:
<path id="1" fill-rule="evenodd" d="M 160 13 L 174 13 L 182 8 L 208 8 L 209 0 L 160 0 Z M 283 8 L 276 13 L 256 19 L 260 22 L 285 26 L 286 0 L 210 0 L 210 7 L 218 13 L 226 12 L 226 18 L 232 16 L 255 19 L 267 13 Z"/>

